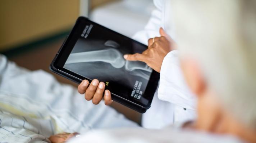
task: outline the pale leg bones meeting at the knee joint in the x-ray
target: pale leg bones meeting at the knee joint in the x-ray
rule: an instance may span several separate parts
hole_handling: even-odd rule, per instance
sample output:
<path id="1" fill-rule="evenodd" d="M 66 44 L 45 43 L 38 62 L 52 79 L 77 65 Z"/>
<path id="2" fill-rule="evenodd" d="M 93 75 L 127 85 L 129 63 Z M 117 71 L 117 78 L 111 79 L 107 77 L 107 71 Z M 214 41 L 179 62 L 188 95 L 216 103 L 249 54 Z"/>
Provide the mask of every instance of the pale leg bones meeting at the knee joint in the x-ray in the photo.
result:
<path id="1" fill-rule="evenodd" d="M 151 72 L 152 69 L 146 64 L 136 61 L 127 61 L 123 58 L 122 53 L 114 48 L 108 48 L 97 51 L 87 51 L 81 53 L 70 54 L 66 64 L 102 61 L 111 64 L 114 68 L 122 68 L 125 66 L 127 71 L 131 71 L 132 75 L 137 75 L 148 79 L 150 75 L 140 70 Z M 138 70 L 137 70 L 138 69 Z"/>

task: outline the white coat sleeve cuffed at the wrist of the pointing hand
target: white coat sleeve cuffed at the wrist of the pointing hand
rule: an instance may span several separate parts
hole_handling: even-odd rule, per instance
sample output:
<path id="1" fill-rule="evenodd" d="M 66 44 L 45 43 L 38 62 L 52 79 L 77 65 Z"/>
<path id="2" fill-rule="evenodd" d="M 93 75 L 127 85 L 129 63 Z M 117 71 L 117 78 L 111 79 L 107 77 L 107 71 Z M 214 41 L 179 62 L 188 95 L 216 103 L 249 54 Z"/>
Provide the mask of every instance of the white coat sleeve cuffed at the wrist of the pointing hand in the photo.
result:
<path id="1" fill-rule="evenodd" d="M 160 100 L 191 110 L 196 108 L 196 96 L 184 80 L 177 50 L 170 51 L 163 60 L 157 92 Z"/>

